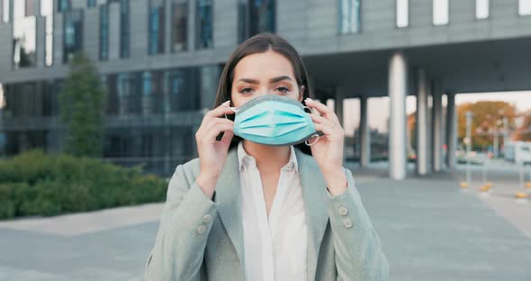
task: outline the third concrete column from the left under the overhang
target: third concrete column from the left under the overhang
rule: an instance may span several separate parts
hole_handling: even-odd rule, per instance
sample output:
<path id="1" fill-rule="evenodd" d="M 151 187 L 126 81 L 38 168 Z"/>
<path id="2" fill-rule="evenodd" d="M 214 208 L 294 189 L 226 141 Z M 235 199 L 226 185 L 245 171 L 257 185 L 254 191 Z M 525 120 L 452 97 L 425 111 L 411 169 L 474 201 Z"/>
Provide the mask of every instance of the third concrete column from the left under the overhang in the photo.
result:
<path id="1" fill-rule="evenodd" d="M 442 164 L 442 127 L 443 127 L 443 95 L 442 87 L 439 81 L 435 81 L 433 85 L 433 113 L 431 115 L 432 121 L 432 137 L 431 144 L 433 148 L 432 161 L 433 171 L 441 170 Z"/>

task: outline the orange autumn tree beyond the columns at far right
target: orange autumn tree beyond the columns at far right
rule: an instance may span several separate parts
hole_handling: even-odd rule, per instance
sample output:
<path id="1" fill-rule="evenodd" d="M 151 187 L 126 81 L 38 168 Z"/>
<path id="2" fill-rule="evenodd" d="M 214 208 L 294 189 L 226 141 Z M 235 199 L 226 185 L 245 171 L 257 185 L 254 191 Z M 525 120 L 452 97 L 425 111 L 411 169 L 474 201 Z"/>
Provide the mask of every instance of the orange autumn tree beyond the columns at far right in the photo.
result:
<path id="1" fill-rule="evenodd" d="M 516 107 L 513 104 L 501 101 L 480 101 L 476 103 L 460 104 L 457 107 L 458 138 L 463 141 L 466 135 L 466 112 L 473 113 L 472 121 L 472 146 L 473 149 L 490 147 L 493 143 L 493 133 L 502 132 L 504 117 L 509 122 L 509 127 L 514 124 Z M 500 137 L 500 144 L 503 138 Z"/>

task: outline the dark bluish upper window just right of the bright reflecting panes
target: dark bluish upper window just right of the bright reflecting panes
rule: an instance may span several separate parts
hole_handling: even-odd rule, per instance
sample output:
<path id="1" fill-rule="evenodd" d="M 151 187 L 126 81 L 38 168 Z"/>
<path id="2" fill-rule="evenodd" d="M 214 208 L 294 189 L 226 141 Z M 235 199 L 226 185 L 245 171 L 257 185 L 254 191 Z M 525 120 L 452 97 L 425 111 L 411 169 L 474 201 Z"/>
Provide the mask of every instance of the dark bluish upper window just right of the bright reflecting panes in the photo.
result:
<path id="1" fill-rule="evenodd" d="M 77 51 L 83 50 L 82 10 L 65 13 L 63 32 L 63 63 L 67 63 Z"/>

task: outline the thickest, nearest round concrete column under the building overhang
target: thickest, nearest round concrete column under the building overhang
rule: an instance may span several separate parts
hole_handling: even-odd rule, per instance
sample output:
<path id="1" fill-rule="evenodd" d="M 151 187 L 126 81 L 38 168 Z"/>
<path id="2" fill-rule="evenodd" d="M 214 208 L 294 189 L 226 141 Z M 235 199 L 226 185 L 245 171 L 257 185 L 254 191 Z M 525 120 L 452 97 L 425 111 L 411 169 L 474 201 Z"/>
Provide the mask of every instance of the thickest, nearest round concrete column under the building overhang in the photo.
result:
<path id="1" fill-rule="evenodd" d="M 389 176 L 401 180 L 406 177 L 406 91 L 408 62 L 402 51 L 395 51 L 389 59 Z"/>

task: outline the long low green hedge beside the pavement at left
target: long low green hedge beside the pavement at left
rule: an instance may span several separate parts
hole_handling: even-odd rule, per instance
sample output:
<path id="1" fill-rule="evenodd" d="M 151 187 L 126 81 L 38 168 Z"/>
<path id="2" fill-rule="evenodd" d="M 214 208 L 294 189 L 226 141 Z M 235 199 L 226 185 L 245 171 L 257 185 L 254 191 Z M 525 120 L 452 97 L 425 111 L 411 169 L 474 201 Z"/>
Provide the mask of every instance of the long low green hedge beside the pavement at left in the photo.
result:
<path id="1" fill-rule="evenodd" d="M 24 152 L 0 159 L 0 219 L 164 201 L 166 181 L 98 159 Z"/>

